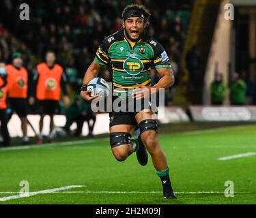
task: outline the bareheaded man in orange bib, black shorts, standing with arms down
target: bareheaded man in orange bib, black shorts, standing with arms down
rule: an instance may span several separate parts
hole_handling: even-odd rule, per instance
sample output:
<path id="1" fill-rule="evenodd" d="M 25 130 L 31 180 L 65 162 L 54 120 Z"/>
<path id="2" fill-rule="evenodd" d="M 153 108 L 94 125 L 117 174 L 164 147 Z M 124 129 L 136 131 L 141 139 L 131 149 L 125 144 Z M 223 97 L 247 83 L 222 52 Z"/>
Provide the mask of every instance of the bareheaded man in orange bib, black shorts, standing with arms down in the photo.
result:
<path id="1" fill-rule="evenodd" d="M 38 135 L 38 144 L 42 144 L 43 136 L 42 129 L 44 125 L 44 116 L 50 116 L 50 134 L 48 142 L 53 142 L 55 134 L 54 129 L 54 114 L 59 109 L 59 100 L 61 99 L 61 90 L 63 91 L 63 102 L 69 104 L 68 91 L 66 89 L 66 76 L 63 73 L 63 68 L 55 63 L 55 53 L 53 51 L 46 52 L 46 63 L 40 63 L 35 69 L 33 77 L 33 90 L 40 106 L 40 133 Z M 35 98 L 29 99 L 30 104 L 34 104 Z"/>

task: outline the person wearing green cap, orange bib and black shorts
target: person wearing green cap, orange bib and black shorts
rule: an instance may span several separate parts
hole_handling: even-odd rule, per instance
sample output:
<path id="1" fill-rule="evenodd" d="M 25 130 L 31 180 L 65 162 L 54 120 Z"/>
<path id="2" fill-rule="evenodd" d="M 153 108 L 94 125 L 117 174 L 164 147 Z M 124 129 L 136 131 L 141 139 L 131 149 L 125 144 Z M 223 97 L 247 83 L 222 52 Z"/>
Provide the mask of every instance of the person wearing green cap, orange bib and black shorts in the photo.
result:
<path id="1" fill-rule="evenodd" d="M 21 120 L 21 129 L 23 131 L 23 144 L 29 143 L 27 137 L 27 81 L 28 72 L 23 67 L 23 59 L 20 52 L 14 52 L 12 55 L 12 64 L 6 65 L 7 81 L 9 91 L 9 102 L 12 112 L 16 112 Z"/>

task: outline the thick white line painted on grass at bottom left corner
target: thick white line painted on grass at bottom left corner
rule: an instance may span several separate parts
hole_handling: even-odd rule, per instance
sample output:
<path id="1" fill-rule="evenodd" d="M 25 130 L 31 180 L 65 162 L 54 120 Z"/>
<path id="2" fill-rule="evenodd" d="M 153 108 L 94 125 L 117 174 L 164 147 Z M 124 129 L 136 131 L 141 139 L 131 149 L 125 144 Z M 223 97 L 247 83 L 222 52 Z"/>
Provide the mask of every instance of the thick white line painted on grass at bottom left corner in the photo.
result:
<path id="1" fill-rule="evenodd" d="M 18 198 L 28 198 L 28 197 L 37 196 L 40 194 L 55 193 L 56 191 L 63 191 L 63 190 L 67 190 L 67 189 L 74 189 L 74 188 L 81 188 L 81 187 L 84 187 L 84 185 L 69 185 L 69 186 L 59 187 L 59 188 L 55 188 L 55 189 L 46 189 L 46 190 L 42 190 L 42 191 L 33 191 L 33 192 L 29 192 L 29 193 L 20 193 L 19 195 L 16 195 L 16 196 L 8 196 L 8 197 L 0 198 L 0 202 L 5 202 L 7 200 L 13 200 L 13 199 L 18 199 Z"/>

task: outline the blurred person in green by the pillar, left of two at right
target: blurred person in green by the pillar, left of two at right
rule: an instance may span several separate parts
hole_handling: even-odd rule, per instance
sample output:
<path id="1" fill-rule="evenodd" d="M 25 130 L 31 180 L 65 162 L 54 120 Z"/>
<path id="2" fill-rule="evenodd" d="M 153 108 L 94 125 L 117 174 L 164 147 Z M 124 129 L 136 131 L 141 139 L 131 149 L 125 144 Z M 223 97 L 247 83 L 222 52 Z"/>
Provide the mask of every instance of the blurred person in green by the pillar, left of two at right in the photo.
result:
<path id="1" fill-rule="evenodd" d="M 223 82 L 223 74 L 217 73 L 211 84 L 212 105 L 223 105 L 225 99 L 226 87 Z"/>

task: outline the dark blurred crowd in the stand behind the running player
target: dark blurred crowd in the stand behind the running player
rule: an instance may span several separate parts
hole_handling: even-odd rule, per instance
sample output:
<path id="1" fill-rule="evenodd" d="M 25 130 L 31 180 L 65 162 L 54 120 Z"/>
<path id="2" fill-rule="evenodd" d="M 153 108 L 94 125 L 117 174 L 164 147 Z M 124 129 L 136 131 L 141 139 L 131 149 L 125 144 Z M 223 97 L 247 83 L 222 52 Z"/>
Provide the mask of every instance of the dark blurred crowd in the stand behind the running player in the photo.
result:
<path id="1" fill-rule="evenodd" d="M 74 84 L 77 82 L 76 78 L 83 77 L 101 40 L 121 29 L 121 13 L 128 3 L 143 3 L 150 9 L 152 19 L 148 31 L 165 47 L 177 73 L 190 2 L 192 1 L 26 1 L 30 3 L 31 14 L 30 20 L 23 21 L 18 19 L 20 10 L 17 7 L 23 1 L 1 1 L 1 20 L 8 20 L 4 25 L 22 42 L 18 45 L 18 50 L 26 56 L 25 65 L 29 70 L 33 69 L 35 63 L 27 55 L 27 50 L 40 60 L 44 58 L 46 50 L 54 50 L 57 62 L 66 69 L 69 82 Z M 0 59 L 5 61 L 10 61 L 10 55 L 17 50 L 8 31 L 1 25 Z M 104 76 L 107 77 L 108 74 L 109 72 L 105 72 Z"/>

